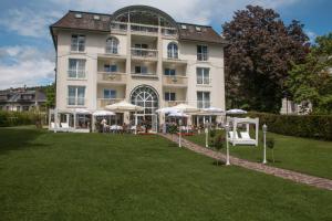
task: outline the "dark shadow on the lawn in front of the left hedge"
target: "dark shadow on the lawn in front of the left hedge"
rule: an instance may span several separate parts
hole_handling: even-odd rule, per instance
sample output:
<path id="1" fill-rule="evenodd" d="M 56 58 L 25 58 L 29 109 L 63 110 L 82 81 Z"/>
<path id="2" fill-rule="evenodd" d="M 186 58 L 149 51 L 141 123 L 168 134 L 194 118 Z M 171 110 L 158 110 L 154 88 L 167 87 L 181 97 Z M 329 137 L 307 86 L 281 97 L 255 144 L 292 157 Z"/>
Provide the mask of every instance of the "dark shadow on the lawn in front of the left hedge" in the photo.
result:
<path id="1" fill-rule="evenodd" d="M 0 128 L 0 155 L 10 150 L 20 150 L 28 147 L 44 147 L 43 143 L 34 143 L 34 140 L 45 134 L 40 129 L 25 129 L 25 128 Z"/>

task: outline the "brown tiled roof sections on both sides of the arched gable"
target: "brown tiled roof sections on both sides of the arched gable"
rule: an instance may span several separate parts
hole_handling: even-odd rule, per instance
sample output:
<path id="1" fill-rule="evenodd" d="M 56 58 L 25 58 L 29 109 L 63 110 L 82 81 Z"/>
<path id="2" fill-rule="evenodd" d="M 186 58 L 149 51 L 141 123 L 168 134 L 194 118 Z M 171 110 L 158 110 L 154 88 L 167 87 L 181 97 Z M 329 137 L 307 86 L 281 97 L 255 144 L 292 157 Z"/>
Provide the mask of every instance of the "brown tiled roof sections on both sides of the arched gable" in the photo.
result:
<path id="1" fill-rule="evenodd" d="M 82 14 L 82 18 L 79 19 L 75 18 L 76 13 Z M 100 20 L 95 20 L 94 15 L 100 15 Z M 113 18 L 112 14 L 83 12 L 83 11 L 69 11 L 62 19 L 60 19 L 59 21 L 56 21 L 54 24 L 50 27 L 53 41 L 54 41 L 53 30 L 56 28 L 110 32 L 112 18 Z M 219 44 L 227 43 L 225 39 L 221 38 L 209 25 L 188 24 L 188 23 L 180 23 L 180 22 L 177 22 L 177 25 L 179 32 L 179 40 L 199 41 L 199 42 L 219 43 Z M 186 29 L 181 29 L 181 25 L 186 25 Z M 197 31 L 196 27 L 199 27 L 200 31 Z"/>

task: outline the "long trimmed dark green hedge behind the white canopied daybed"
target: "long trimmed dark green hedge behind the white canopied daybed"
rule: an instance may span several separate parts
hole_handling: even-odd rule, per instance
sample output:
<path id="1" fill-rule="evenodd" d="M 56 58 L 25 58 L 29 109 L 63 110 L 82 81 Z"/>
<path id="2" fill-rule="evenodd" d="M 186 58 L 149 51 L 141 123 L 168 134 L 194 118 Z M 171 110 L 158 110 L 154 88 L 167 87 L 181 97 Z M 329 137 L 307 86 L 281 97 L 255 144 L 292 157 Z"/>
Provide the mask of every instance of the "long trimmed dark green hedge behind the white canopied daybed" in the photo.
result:
<path id="1" fill-rule="evenodd" d="M 260 125 L 267 124 L 268 130 L 281 135 L 332 140 L 332 115 L 277 115 L 249 113 L 259 117 Z"/>

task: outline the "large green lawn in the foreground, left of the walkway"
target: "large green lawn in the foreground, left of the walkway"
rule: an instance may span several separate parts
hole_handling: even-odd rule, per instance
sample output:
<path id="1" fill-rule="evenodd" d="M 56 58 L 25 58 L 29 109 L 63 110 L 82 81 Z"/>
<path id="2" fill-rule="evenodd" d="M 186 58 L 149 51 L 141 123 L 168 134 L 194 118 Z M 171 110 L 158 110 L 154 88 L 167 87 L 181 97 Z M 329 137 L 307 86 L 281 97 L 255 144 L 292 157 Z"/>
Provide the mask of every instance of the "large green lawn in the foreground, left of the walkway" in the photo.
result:
<path id="1" fill-rule="evenodd" d="M 332 220 L 332 191 L 157 136 L 0 129 L 0 220 Z"/>

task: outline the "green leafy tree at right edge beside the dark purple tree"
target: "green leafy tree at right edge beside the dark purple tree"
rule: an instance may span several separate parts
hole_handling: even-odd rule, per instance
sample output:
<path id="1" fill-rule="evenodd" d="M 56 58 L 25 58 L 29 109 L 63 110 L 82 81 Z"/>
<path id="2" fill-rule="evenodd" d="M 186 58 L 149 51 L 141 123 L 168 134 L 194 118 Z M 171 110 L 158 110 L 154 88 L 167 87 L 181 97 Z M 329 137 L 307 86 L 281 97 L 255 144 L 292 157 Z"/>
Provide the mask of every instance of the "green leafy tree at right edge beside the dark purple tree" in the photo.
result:
<path id="1" fill-rule="evenodd" d="M 317 114 L 332 113 L 332 33 L 318 36 L 301 64 L 292 64 L 286 85 L 292 99 L 312 104 Z"/>

